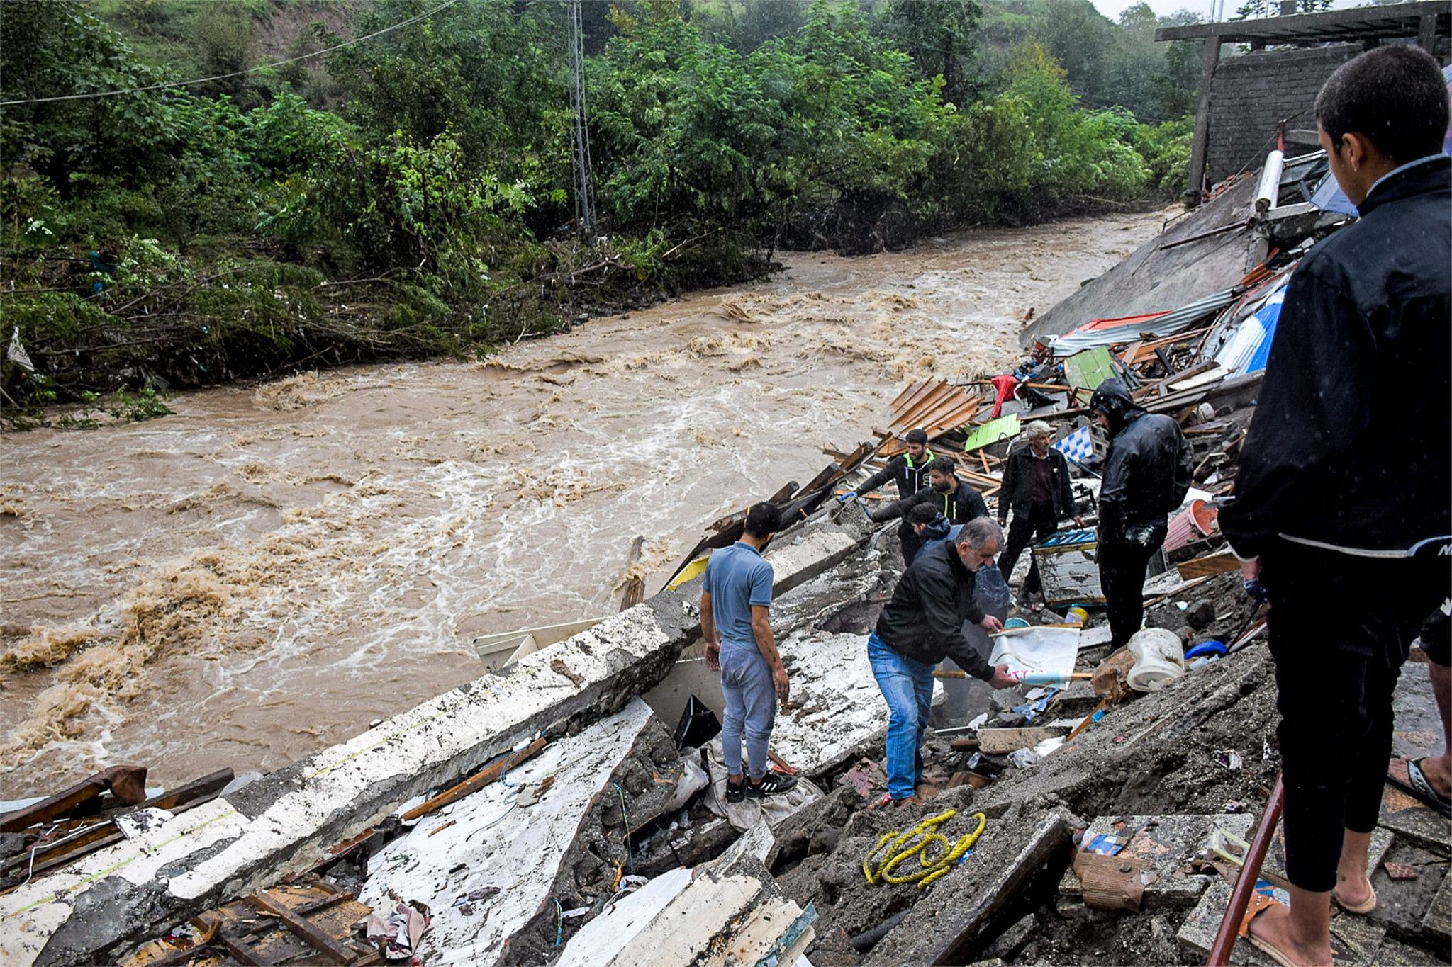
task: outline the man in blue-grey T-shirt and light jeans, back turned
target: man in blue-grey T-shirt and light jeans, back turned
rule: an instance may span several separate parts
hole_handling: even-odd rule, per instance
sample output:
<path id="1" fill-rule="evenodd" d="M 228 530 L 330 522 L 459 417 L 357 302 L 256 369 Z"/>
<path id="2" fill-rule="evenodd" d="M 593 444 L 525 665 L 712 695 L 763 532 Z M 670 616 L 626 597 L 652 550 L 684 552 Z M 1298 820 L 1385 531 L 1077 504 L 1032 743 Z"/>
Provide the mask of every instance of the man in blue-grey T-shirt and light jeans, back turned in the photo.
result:
<path id="1" fill-rule="evenodd" d="M 706 667 L 722 673 L 726 802 L 733 803 L 746 796 L 784 793 L 797 784 L 790 776 L 768 771 L 767 758 L 777 702 L 786 702 L 788 693 L 787 670 L 771 634 L 771 564 L 761 557 L 761 548 L 780 526 L 781 510 L 775 505 L 752 505 L 741 541 L 711 554 L 706 565 L 701 636 Z M 749 781 L 741 763 L 742 734 Z"/>

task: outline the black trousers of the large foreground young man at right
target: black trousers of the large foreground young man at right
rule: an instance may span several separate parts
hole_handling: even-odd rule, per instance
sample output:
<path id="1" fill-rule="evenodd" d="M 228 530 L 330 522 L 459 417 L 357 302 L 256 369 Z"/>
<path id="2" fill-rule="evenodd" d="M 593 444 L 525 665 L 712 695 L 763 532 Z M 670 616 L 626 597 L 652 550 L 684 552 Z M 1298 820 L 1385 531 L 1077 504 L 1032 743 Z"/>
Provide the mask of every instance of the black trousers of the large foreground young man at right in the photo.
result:
<path id="1" fill-rule="evenodd" d="M 1260 577 L 1270 594 L 1286 879 L 1323 893 L 1336 886 L 1343 831 L 1376 828 L 1392 690 L 1417 626 L 1448 593 L 1448 564 L 1279 541 L 1262 555 Z"/>

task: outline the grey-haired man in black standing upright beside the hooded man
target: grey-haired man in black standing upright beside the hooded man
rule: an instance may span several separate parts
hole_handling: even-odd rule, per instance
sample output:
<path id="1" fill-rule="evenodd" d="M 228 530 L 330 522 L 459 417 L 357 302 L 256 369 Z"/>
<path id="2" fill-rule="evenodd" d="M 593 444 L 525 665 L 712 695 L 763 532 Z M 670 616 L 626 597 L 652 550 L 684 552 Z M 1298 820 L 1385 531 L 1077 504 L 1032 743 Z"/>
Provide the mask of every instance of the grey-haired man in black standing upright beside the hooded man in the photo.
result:
<path id="1" fill-rule="evenodd" d="M 1008 542 L 999 557 L 999 570 L 1005 578 L 1012 577 L 1024 548 L 1054 536 L 1060 520 L 1073 518 L 1076 525 L 1083 526 L 1069 489 L 1069 461 L 1053 448 L 1053 436 L 1054 429 L 1048 423 L 1034 420 L 1024 431 L 1028 445 L 1008 455 L 998 503 L 999 526 L 1008 522 L 1008 512 L 1013 512 Z M 1038 590 L 1038 563 L 1034 561 L 1024 578 L 1021 600 L 1027 602 Z"/>

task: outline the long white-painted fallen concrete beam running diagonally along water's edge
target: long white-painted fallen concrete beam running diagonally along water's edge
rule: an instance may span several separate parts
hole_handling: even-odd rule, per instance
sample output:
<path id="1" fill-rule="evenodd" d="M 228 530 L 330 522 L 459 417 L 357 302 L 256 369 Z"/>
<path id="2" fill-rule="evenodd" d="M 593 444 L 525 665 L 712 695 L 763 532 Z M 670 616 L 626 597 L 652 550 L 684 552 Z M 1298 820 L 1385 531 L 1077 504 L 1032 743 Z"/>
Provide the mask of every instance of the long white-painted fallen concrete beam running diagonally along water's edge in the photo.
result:
<path id="1" fill-rule="evenodd" d="M 768 552 L 790 589 L 844 560 L 865 522 L 812 522 Z M 563 735 L 665 677 L 700 636 L 700 590 L 658 594 L 497 673 L 0 896 L 7 964 L 94 960 L 219 902 L 311 868 L 399 805 L 457 781 L 523 738 Z M 163 857 L 160 861 L 157 857 Z"/>

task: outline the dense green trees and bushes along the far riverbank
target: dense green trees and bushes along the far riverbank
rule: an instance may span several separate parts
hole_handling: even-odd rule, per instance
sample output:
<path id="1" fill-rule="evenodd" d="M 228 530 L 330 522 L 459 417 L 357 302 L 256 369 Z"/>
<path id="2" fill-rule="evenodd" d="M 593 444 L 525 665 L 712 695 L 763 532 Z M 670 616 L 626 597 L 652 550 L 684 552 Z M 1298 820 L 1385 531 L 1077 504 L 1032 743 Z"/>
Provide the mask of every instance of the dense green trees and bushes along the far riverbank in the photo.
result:
<path id="1" fill-rule="evenodd" d="M 1089 0 L 0 6 L 0 419 L 306 365 L 485 352 L 749 278 L 772 249 L 1169 199 L 1196 58 Z M 261 68 L 261 70 L 254 70 Z M 121 96 L 41 100 L 152 87 Z M 136 396 L 139 393 L 139 396 Z M 15 416 L 12 416 L 12 420 Z M 89 419 L 86 416 L 77 419 Z"/>

